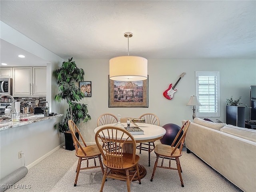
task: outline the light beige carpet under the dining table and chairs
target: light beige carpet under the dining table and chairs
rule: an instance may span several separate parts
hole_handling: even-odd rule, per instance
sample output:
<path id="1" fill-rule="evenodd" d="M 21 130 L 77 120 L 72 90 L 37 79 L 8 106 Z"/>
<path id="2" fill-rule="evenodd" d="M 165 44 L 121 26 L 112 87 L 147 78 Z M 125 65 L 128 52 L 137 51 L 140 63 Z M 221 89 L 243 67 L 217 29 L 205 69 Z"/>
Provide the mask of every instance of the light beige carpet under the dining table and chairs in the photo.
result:
<path id="1" fill-rule="evenodd" d="M 6 192 L 100 191 L 102 182 L 100 168 L 81 170 L 77 186 L 74 187 L 78 161 L 74 153 L 74 151 L 60 148 L 28 170 L 28 174 Z M 137 154 L 139 154 L 138 151 Z M 187 154 L 186 150 L 183 151 L 183 155 L 180 157 L 184 187 L 181 187 L 178 171 L 176 170 L 156 168 L 153 182 L 150 182 L 156 155 L 154 152 L 151 153 L 150 167 L 148 167 L 148 153 L 142 151 L 142 154 L 139 155 L 140 164 L 146 168 L 147 174 L 142 178 L 142 184 L 138 184 L 138 181 L 131 182 L 132 192 L 242 192 L 194 154 Z M 174 161 L 172 163 L 176 165 Z M 17 188 L 19 185 L 29 185 L 30 187 L 20 189 Z M 126 182 L 108 178 L 103 191 L 125 192 L 127 191 Z"/>

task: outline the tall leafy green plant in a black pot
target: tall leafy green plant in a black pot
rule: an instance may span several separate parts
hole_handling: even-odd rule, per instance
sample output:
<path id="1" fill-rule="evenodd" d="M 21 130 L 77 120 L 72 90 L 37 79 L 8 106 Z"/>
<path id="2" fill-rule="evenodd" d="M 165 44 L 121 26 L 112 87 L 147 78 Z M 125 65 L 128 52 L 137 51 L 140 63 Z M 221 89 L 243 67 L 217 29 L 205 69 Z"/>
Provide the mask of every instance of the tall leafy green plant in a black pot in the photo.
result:
<path id="1" fill-rule="evenodd" d="M 72 136 L 68 128 L 68 120 L 72 119 L 77 126 L 81 121 L 87 122 L 91 120 L 88 114 L 88 105 L 78 103 L 85 97 L 84 93 L 80 91 L 80 88 L 76 86 L 76 83 L 84 80 L 84 70 L 78 68 L 72 59 L 68 59 L 67 62 L 64 61 L 60 68 L 53 71 L 53 76 L 57 80 L 60 91 L 55 95 L 54 99 L 57 102 L 66 100 L 68 104 L 66 116 L 54 126 L 55 129 L 65 134 L 65 146 L 67 150 L 74 150 Z"/>

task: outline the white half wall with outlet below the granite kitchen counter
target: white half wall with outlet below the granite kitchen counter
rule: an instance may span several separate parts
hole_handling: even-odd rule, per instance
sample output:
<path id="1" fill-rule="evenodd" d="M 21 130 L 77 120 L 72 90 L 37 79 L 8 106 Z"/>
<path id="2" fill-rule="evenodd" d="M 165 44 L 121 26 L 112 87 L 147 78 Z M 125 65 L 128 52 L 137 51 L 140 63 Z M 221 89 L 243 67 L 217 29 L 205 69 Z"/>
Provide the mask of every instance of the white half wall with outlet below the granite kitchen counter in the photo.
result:
<path id="1" fill-rule="evenodd" d="M 31 168 L 60 148 L 62 142 L 58 139 L 58 132 L 53 129 L 53 125 L 60 120 L 61 118 L 54 118 L 1 130 L 0 178 L 24 166 L 24 157 L 18 159 L 19 151 L 26 156 L 25 166 Z"/>

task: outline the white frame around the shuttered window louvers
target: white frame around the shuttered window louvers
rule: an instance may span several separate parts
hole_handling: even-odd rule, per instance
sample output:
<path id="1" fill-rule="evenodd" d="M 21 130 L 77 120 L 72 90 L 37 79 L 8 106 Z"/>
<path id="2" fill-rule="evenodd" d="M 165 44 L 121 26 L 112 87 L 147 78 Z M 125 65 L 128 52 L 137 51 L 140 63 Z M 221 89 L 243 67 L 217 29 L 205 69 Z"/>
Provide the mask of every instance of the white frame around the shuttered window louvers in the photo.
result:
<path id="1" fill-rule="evenodd" d="M 208 76 L 208 77 L 215 77 L 216 78 L 216 83 L 214 84 L 215 89 L 214 89 L 214 97 L 215 97 L 215 107 L 216 107 L 216 112 L 200 112 L 200 108 L 203 106 L 212 106 L 210 104 L 208 105 L 202 105 L 202 106 L 197 106 L 196 107 L 196 116 L 197 117 L 220 117 L 220 72 L 218 71 L 196 71 L 196 96 L 200 102 L 200 94 L 199 94 L 199 76 Z M 210 84 L 208 84 L 209 86 Z M 213 85 L 213 84 L 212 84 Z M 208 94 L 209 96 L 210 94 Z M 211 94 L 212 95 L 212 94 Z M 202 104 L 202 103 L 201 103 Z"/>

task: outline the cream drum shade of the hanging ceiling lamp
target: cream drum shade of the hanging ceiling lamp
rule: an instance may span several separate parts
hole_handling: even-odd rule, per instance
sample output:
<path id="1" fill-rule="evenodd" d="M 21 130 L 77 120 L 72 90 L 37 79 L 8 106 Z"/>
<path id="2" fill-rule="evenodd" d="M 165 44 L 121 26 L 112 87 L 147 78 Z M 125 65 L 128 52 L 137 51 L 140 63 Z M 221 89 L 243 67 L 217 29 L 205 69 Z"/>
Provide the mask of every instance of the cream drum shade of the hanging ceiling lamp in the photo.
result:
<path id="1" fill-rule="evenodd" d="M 109 60 L 109 78 L 115 81 L 141 81 L 148 78 L 148 60 L 140 56 L 119 56 Z"/>

